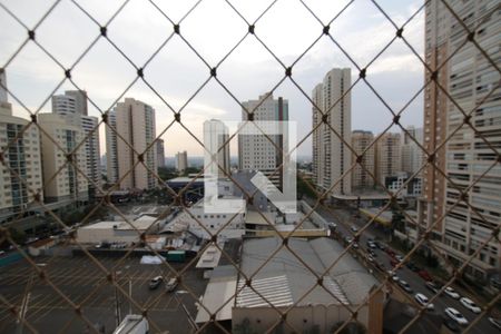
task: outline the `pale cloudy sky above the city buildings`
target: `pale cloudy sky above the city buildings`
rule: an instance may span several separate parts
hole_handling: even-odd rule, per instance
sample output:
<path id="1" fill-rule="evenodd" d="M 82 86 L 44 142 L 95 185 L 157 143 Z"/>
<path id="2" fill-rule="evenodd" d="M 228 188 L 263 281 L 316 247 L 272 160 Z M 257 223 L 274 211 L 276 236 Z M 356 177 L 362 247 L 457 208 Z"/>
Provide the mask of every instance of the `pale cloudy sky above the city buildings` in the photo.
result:
<path id="1" fill-rule="evenodd" d="M 50 112 L 47 97 L 63 79 L 62 69 L 33 42 L 28 42 L 12 61 L 9 59 L 27 37 L 26 28 L 17 22 L 9 10 L 32 29 L 55 1 L 0 0 L 0 67 L 7 65 L 8 87 L 31 111 Z M 189 14 L 197 1 L 155 1 L 174 22 L 180 21 L 180 33 L 210 66 L 215 67 L 247 33 L 247 22 L 254 22 L 273 1 L 230 1 L 239 17 L 223 0 L 203 0 Z M 325 24 L 350 1 L 303 1 Z M 278 0 L 256 22 L 256 36 L 285 65 L 293 67 L 293 78 L 310 95 L 314 86 L 334 67 L 351 67 L 352 81 L 394 37 L 395 28 L 369 0 L 353 3 L 331 24 L 332 38 L 350 55 L 350 60 L 326 36 L 322 37 L 297 62 L 298 57 L 322 35 L 322 23 L 298 0 Z M 72 1 L 62 0 L 36 29 L 37 41 L 65 68 L 70 68 L 87 47 L 98 37 L 98 24 L 106 24 L 122 1 L 79 0 L 96 21 L 86 16 Z M 397 24 L 413 16 L 422 1 L 382 0 L 384 11 Z M 7 10 L 6 10 L 7 9 Z M 186 17 L 185 17 L 186 16 Z M 185 17 L 185 18 L 184 18 Z M 109 23 L 109 39 L 134 62 L 144 67 L 151 55 L 173 33 L 173 24 L 146 0 L 131 0 Z M 421 11 L 405 26 L 404 37 L 422 55 L 424 39 L 424 12 Z M 87 90 L 89 98 L 106 111 L 136 78 L 136 69 L 111 43 L 100 39 L 75 66 L 75 84 Z M 217 78 L 239 100 L 256 99 L 269 91 L 284 77 L 282 65 L 254 36 L 244 41 L 218 66 Z M 181 108 L 209 78 L 206 63 L 179 37 L 171 37 L 158 55 L 145 67 L 145 80 L 175 110 Z M 394 110 L 400 110 L 423 85 L 423 67 L 412 51 L 395 40 L 367 70 L 367 81 Z M 65 81 L 57 90 L 61 94 L 76 87 Z M 138 80 L 124 95 L 151 105 L 156 109 L 157 134 L 173 120 L 173 111 Z M 289 118 L 298 122 L 298 138 L 311 130 L 312 106 L 307 98 L 286 79 L 274 94 L 288 99 Z M 28 117 L 28 112 L 10 97 L 14 114 Z M 403 112 L 402 124 L 422 125 L 423 97 L 420 95 Z M 89 106 L 90 115 L 100 111 Z M 199 94 L 181 111 L 183 122 L 202 136 L 202 124 L 218 118 L 239 120 L 242 109 L 223 87 L 210 79 Z M 374 132 L 391 124 L 391 114 L 363 81 L 352 90 L 352 129 Z M 397 131 L 396 128 L 392 129 Z M 101 132 L 101 153 L 105 153 L 105 128 Z M 202 155 L 198 146 L 179 125 L 165 135 L 166 155 L 188 150 Z M 236 153 L 236 143 L 232 143 Z M 304 141 L 299 155 L 311 154 L 311 140 Z"/>

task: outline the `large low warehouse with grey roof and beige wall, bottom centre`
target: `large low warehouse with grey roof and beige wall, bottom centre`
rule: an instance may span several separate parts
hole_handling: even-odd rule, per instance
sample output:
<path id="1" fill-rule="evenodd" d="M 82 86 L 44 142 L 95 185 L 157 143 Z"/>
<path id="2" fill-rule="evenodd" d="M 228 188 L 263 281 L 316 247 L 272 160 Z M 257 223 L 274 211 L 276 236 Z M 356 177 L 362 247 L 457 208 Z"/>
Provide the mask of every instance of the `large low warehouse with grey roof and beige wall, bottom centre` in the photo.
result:
<path id="1" fill-rule="evenodd" d="M 287 313 L 289 326 L 282 326 L 282 333 L 328 333 L 334 324 L 350 318 L 348 308 L 358 306 L 357 321 L 371 328 L 371 333 L 381 333 L 382 293 L 370 296 L 377 281 L 347 254 L 327 271 L 343 253 L 341 245 L 323 237 L 312 240 L 289 238 L 288 248 L 303 262 L 282 245 L 281 238 L 244 242 L 240 259 L 243 275 L 237 282 L 232 311 L 234 332 L 250 324 L 252 331 L 264 333 L 281 322 L 281 315 L 274 308 L 284 312 L 294 305 Z M 271 257 L 271 254 L 274 255 Z M 325 271 L 327 274 L 322 277 L 322 287 L 316 285 L 316 275 Z M 252 287 L 246 286 L 244 275 L 253 277 Z"/>

